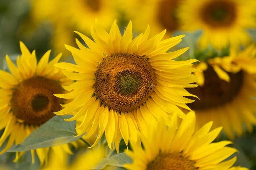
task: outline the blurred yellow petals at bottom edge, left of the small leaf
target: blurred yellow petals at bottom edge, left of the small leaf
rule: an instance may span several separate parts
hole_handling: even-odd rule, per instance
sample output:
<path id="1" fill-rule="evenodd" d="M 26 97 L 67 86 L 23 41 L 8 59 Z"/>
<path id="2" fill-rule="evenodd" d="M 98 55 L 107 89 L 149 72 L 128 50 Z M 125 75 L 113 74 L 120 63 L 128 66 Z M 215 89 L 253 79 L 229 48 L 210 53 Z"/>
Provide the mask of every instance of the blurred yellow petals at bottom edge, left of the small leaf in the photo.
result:
<path id="1" fill-rule="evenodd" d="M 50 152 L 48 165 L 41 170 L 91 170 L 98 164 L 100 158 L 104 158 L 105 149 L 102 146 L 93 149 L 86 149 L 78 152 L 72 162 L 69 161 L 68 154 L 60 155 L 59 152 Z"/>

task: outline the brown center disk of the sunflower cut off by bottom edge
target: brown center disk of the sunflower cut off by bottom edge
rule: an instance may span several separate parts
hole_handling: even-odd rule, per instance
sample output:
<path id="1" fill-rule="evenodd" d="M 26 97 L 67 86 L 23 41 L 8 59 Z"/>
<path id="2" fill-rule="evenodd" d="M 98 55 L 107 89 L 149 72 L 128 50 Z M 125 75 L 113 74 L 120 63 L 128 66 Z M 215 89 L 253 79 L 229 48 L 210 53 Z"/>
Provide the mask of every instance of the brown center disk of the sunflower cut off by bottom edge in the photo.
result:
<path id="1" fill-rule="evenodd" d="M 147 164 L 146 170 L 196 170 L 194 164 L 179 153 L 160 153 Z"/>

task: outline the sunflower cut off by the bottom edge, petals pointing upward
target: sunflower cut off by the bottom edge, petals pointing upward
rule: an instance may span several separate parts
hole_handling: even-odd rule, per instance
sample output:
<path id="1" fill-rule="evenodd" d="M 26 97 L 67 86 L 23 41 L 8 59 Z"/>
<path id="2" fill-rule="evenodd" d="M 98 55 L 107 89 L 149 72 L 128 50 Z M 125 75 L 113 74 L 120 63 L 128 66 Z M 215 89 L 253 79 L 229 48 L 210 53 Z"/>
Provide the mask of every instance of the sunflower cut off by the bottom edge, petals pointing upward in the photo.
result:
<path id="1" fill-rule="evenodd" d="M 237 150 L 226 145 L 230 141 L 212 143 L 222 127 L 212 131 L 212 121 L 198 131 L 195 130 L 196 115 L 190 111 L 177 127 L 174 114 L 170 127 L 160 120 L 157 126 L 149 128 L 150 133 L 140 133 L 144 149 L 131 142 L 132 150 L 125 150 L 133 159 L 132 164 L 124 164 L 129 170 L 228 170 L 236 157 L 225 160 Z"/>

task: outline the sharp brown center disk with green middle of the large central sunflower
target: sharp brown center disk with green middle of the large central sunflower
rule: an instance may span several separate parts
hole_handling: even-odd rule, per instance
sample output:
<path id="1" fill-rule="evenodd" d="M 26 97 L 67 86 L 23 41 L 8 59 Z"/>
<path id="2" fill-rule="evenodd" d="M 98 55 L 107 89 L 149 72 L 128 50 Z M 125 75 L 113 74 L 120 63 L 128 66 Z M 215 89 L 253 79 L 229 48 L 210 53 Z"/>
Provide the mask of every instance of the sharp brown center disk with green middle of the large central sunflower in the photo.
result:
<path id="1" fill-rule="evenodd" d="M 129 112 L 146 102 L 155 86 L 155 74 L 145 57 L 112 54 L 95 73 L 95 95 L 104 106 Z"/>

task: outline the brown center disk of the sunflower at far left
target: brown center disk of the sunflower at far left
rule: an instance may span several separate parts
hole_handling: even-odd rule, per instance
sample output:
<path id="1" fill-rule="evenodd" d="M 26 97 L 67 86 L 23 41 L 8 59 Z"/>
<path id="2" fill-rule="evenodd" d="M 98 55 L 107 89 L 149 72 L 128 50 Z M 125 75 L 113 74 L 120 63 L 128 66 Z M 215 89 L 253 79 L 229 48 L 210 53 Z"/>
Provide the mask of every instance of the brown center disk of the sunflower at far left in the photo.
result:
<path id="1" fill-rule="evenodd" d="M 41 125 L 61 109 L 62 99 L 53 94 L 62 93 L 62 87 L 55 80 L 33 77 L 21 82 L 11 99 L 16 118 L 30 125 Z"/>

